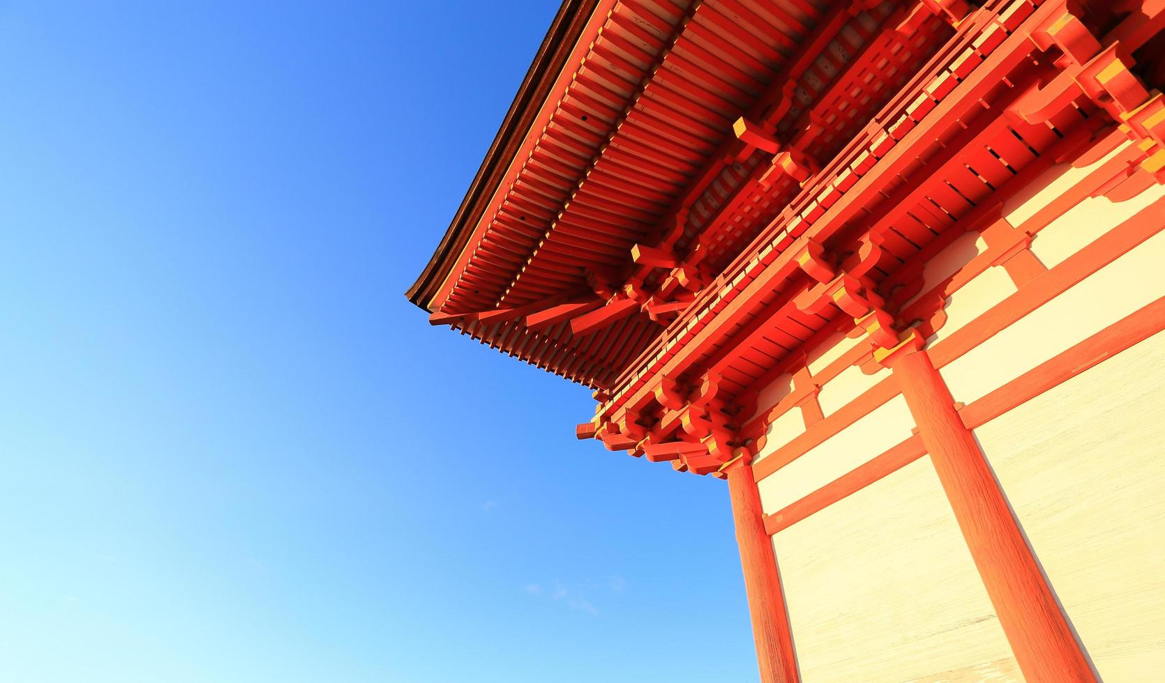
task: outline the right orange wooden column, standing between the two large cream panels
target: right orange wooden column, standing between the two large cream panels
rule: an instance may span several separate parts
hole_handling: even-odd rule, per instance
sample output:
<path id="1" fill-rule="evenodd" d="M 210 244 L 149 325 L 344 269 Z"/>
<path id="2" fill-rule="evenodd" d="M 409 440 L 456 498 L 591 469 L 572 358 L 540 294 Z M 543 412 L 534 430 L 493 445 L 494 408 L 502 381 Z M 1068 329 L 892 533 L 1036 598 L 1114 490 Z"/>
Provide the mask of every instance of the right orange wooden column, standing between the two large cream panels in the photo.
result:
<path id="1" fill-rule="evenodd" d="M 889 363 L 1029 683 L 1095 681 L 1003 491 L 923 350 Z"/>

